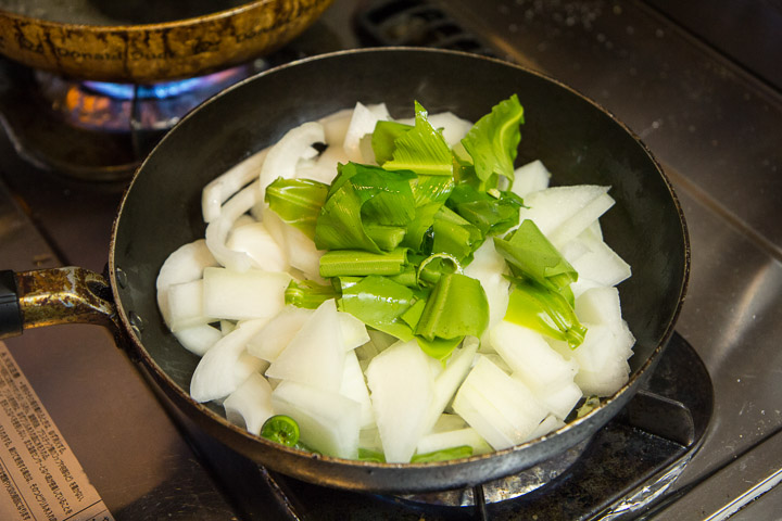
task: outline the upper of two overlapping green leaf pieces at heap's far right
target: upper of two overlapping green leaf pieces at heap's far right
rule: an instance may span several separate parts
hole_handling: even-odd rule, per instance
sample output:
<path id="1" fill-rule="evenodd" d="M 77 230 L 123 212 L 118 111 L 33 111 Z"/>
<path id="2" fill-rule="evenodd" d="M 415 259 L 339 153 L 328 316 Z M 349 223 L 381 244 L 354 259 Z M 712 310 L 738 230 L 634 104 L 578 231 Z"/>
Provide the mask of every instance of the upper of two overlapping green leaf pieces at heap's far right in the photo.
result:
<path id="1" fill-rule="evenodd" d="M 494 246 L 508 264 L 539 284 L 562 291 L 578 280 L 578 272 L 529 219 L 509 238 L 494 238 Z"/>

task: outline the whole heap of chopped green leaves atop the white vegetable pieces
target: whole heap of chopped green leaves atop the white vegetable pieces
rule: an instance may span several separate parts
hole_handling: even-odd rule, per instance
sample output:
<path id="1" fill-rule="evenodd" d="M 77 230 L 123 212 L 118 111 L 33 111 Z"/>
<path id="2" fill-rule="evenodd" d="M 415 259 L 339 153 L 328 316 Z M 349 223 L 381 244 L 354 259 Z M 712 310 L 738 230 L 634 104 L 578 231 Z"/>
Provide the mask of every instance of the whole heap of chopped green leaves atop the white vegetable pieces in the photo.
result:
<path id="1" fill-rule="evenodd" d="M 465 335 L 480 336 L 488 327 L 485 292 L 462 268 L 495 237 L 515 276 L 508 317 L 571 344 L 583 338 L 568 302 L 577 277 L 570 265 L 529 225 L 496 237 L 518 225 L 522 206 L 513 192 L 497 189 L 502 178 L 513 180 L 521 123 L 513 96 L 452 150 L 416 102 L 414 125 L 377 124 L 371 145 L 378 165 L 339 165 L 330 186 L 303 179 L 269 185 L 270 208 L 327 251 L 320 275 L 332 283 L 291 282 L 286 302 L 317 307 L 336 296 L 341 310 L 368 327 L 415 339 L 428 355 L 445 359 Z"/>

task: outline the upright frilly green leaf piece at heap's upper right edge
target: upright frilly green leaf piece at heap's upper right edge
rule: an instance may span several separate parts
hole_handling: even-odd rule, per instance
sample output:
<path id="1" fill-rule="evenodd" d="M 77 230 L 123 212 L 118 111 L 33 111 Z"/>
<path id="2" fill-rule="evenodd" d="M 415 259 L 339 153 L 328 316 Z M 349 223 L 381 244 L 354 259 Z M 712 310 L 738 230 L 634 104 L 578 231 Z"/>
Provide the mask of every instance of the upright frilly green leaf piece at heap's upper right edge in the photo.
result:
<path id="1" fill-rule="evenodd" d="M 481 188 L 496 187 L 499 176 L 514 178 L 514 161 L 521 141 L 519 125 L 524 123 L 524 109 L 513 94 L 492 107 L 476 122 L 462 140 L 472 157 Z"/>

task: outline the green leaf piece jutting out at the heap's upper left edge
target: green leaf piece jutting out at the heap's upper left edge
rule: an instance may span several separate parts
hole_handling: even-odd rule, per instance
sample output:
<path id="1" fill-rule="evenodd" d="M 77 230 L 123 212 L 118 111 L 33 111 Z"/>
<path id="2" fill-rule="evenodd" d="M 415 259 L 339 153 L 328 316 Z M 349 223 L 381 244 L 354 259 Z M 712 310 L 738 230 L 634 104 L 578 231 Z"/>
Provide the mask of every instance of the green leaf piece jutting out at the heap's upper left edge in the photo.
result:
<path id="1" fill-rule="evenodd" d="M 266 187 L 265 200 L 285 223 L 299 228 L 312 239 L 328 189 L 328 185 L 312 179 L 278 177 Z"/>

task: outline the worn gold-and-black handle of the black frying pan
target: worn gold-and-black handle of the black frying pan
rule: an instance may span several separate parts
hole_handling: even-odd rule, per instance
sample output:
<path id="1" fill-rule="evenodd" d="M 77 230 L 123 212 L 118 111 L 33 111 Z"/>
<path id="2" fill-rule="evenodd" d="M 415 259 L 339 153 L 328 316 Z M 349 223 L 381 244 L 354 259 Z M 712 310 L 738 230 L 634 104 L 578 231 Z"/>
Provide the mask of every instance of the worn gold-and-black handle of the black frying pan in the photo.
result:
<path id="1" fill-rule="evenodd" d="M 84 268 L 0 271 L 0 339 L 60 323 L 121 330 L 106 279 Z"/>

